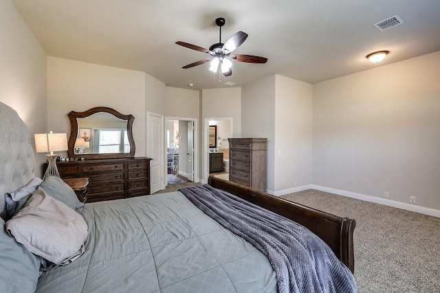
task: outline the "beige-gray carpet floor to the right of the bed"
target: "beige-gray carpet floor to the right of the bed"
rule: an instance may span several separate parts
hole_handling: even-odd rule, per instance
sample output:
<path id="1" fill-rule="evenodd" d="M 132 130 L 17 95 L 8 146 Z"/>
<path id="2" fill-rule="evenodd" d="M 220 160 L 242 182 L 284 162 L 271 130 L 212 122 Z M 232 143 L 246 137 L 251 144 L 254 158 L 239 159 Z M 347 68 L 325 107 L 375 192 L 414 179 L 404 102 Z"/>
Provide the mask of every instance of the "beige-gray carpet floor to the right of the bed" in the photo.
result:
<path id="1" fill-rule="evenodd" d="M 440 292 L 440 218 L 314 190 L 281 197 L 356 220 L 358 292 Z"/>

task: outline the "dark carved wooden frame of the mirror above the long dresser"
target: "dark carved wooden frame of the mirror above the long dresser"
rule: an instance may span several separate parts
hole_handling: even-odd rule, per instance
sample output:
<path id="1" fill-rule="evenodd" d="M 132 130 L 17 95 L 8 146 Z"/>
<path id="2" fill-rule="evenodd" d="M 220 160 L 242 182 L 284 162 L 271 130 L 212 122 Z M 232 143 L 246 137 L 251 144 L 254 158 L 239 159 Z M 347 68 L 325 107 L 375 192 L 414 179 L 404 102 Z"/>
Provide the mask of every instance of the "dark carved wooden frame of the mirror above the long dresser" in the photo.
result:
<path id="1" fill-rule="evenodd" d="M 129 138 L 130 143 L 130 153 L 80 153 L 75 154 L 75 141 L 78 136 L 78 120 L 77 118 L 86 118 L 94 113 L 105 112 L 110 113 L 117 118 L 122 120 L 127 120 L 126 132 Z M 118 158 L 134 158 L 135 156 L 135 140 L 133 138 L 133 120 L 135 120 L 133 115 L 124 115 L 116 111 L 115 109 L 111 109 L 109 107 L 94 107 L 84 112 L 76 112 L 70 111 L 67 114 L 70 120 L 70 137 L 68 142 L 68 150 L 67 154 L 69 158 L 84 158 L 85 160 L 89 159 L 118 159 Z"/>

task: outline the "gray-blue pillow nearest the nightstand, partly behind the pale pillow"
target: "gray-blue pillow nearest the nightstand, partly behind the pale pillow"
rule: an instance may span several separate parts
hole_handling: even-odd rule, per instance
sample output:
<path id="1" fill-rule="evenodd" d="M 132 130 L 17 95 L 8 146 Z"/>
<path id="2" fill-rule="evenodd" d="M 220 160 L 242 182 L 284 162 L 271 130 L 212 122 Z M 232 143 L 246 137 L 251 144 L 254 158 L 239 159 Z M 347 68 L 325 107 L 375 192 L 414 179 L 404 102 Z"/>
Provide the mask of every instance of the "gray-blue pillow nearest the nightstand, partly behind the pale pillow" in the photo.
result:
<path id="1" fill-rule="evenodd" d="M 40 187 L 43 188 L 43 191 L 45 191 L 47 195 L 58 199 L 66 206 L 69 206 L 69 208 L 73 208 L 78 213 L 83 211 L 84 204 L 79 201 L 73 189 L 61 178 L 49 176 L 43 181 Z"/>

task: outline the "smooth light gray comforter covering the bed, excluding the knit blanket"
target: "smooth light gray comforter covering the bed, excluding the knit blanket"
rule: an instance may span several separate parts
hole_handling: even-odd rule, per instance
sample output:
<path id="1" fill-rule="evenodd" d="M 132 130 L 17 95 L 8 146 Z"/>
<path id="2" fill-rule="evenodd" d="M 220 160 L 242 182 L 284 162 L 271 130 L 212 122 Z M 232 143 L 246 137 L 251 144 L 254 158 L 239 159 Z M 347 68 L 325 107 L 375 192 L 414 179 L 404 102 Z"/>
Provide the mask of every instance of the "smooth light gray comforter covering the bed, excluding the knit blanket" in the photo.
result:
<path id="1" fill-rule="evenodd" d="M 37 292 L 276 292 L 267 258 L 182 193 L 85 204 L 85 253 Z M 1 291 L 1 289 L 0 289 Z"/>

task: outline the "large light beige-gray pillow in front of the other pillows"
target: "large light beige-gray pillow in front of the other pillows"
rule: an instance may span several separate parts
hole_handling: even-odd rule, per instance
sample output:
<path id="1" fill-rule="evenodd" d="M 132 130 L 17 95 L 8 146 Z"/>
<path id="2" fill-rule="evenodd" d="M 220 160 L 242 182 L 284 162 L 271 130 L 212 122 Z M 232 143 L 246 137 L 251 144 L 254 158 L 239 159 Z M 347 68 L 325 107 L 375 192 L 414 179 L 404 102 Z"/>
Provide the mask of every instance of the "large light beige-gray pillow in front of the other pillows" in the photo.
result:
<path id="1" fill-rule="evenodd" d="M 83 217 L 40 187 L 5 225 L 17 242 L 56 265 L 70 263 L 84 252 Z"/>

